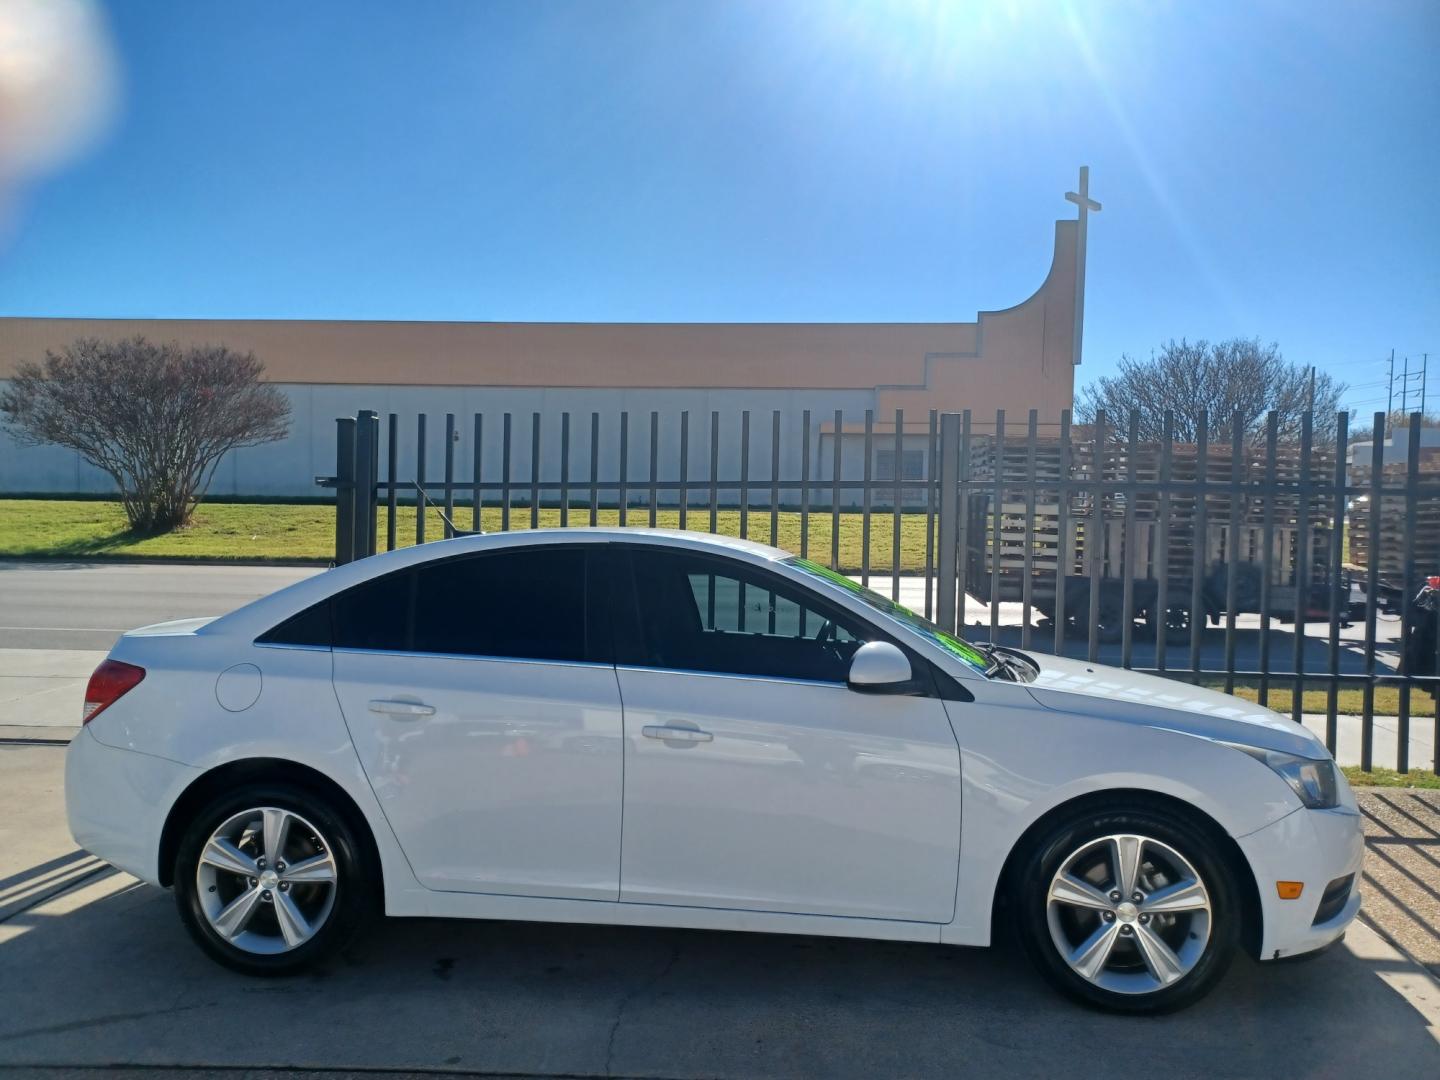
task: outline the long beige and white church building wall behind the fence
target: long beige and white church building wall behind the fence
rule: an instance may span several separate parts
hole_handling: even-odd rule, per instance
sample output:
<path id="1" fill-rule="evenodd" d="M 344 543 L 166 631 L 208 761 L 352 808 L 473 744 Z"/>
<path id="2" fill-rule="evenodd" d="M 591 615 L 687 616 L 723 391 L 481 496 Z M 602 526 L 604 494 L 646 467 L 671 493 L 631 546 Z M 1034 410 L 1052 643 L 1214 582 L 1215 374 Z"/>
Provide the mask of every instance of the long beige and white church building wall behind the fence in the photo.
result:
<path id="1" fill-rule="evenodd" d="M 431 420 L 431 462 L 442 459 L 444 413 L 459 418 L 462 442 L 469 413 L 492 416 L 484 442 L 498 439 L 510 412 L 528 435 L 541 415 L 553 441 L 569 412 L 588 432 L 590 412 L 606 418 L 603 452 L 618 439 L 611 419 L 631 419 L 631 459 L 649 448 L 648 413 L 664 415 L 661 452 L 678 458 L 678 415 L 690 419 L 690 459 L 708 461 L 710 413 L 721 415 L 726 461 L 733 472 L 740 415 L 752 413 L 752 467 L 769 475 L 770 412 L 788 432 L 785 472 L 799 475 L 802 452 L 791 432 L 812 413 L 812 461 L 829 461 L 835 410 L 841 410 L 845 456 L 860 451 L 852 436 L 874 413 L 874 432 L 890 435 L 904 410 L 906 445 L 929 428 L 929 412 L 972 410 L 975 428 L 1005 409 L 1024 423 L 1037 409 L 1041 423 L 1058 420 L 1074 395 L 1077 223 L 1056 222 L 1051 266 L 1037 292 L 1015 307 L 981 312 L 973 323 L 904 324 L 536 324 L 382 323 L 266 320 L 0 320 L 0 380 L 17 364 L 43 359 L 79 337 L 141 334 L 157 341 L 225 344 L 253 351 L 266 376 L 291 397 L 294 423 L 284 444 L 232 454 L 220 467 L 217 494 L 315 494 L 314 477 L 331 472 L 334 418 L 369 408 L 396 412 L 408 429 L 415 415 Z M 410 439 L 413 442 L 413 438 Z M 582 455 L 588 445 L 572 442 Z M 549 446 L 549 442 L 546 444 Z M 877 446 L 881 445 L 877 441 Z M 923 446 L 923 442 L 919 445 Z M 528 438 L 517 438 L 513 468 L 528 475 Z M 468 462 L 471 446 L 456 446 Z M 482 448 L 498 458 L 498 442 Z M 402 468 L 405 468 L 402 454 Z M 858 464 L 858 462 L 857 462 Z M 433 467 L 432 467 L 433 468 Z M 588 469 L 580 459 L 572 468 Z M 544 467 L 546 472 L 552 469 Z M 814 475 L 814 474 L 812 474 Z M 22 448 L 0 433 L 0 492 L 105 491 L 108 480 L 60 448 Z"/>

